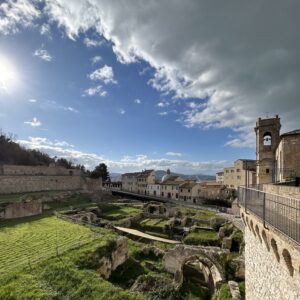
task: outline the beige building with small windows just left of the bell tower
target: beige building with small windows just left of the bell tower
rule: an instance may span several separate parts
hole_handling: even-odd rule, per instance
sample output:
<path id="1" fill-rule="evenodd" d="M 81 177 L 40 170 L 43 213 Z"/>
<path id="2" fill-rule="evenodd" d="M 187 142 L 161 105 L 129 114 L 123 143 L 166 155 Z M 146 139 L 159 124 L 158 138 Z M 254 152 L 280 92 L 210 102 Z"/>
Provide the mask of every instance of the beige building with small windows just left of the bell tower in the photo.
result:
<path id="1" fill-rule="evenodd" d="M 238 159 L 234 162 L 233 167 L 224 168 L 223 184 L 234 189 L 237 189 L 240 185 L 250 186 L 256 184 L 256 161 Z"/>

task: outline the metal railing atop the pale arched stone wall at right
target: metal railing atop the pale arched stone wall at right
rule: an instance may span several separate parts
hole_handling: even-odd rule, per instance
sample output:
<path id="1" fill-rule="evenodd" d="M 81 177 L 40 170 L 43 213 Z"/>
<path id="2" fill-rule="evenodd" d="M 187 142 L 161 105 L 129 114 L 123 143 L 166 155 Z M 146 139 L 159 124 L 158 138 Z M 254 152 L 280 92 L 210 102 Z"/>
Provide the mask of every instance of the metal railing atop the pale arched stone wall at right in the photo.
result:
<path id="1" fill-rule="evenodd" d="M 300 199 L 239 187 L 238 202 L 296 243 L 300 244 Z"/>

